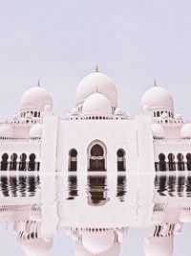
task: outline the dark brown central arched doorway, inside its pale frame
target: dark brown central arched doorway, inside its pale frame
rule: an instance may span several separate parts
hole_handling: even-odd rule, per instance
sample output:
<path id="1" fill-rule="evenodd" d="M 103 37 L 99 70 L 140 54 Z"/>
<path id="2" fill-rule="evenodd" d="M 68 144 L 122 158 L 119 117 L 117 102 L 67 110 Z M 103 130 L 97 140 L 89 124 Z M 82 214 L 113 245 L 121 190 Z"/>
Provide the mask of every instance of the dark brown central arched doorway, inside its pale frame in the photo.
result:
<path id="1" fill-rule="evenodd" d="M 105 171 L 104 150 L 99 144 L 94 145 L 90 151 L 89 171 Z"/>

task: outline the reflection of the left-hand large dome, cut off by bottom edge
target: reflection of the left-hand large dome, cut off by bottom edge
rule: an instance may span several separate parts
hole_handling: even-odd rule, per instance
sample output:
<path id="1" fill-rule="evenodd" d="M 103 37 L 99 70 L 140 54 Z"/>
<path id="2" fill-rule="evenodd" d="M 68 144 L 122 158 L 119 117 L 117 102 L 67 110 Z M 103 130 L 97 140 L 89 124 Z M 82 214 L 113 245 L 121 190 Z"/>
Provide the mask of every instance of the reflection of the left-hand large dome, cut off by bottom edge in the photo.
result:
<path id="1" fill-rule="evenodd" d="M 52 239 L 19 240 L 27 256 L 47 256 L 53 246 Z"/>

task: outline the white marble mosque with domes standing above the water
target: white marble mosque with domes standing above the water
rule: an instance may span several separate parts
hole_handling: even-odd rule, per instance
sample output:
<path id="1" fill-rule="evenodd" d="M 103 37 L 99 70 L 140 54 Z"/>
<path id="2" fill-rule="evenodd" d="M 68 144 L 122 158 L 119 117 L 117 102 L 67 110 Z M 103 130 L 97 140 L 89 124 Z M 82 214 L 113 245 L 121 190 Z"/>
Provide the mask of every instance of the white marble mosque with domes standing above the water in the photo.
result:
<path id="1" fill-rule="evenodd" d="M 154 82 L 134 118 L 118 106 L 117 86 L 96 71 L 83 78 L 64 118 L 38 82 L 0 124 L 0 170 L 58 172 L 191 171 L 191 124 L 175 114 L 171 94 Z"/>

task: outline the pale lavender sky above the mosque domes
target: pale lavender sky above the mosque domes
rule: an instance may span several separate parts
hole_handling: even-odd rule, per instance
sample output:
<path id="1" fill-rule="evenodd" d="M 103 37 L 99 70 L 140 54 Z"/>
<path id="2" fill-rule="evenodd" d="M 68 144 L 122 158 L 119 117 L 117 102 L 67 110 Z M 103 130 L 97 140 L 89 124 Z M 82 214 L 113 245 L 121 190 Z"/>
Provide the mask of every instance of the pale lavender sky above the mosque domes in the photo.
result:
<path id="1" fill-rule="evenodd" d="M 190 12 L 189 0 L 0 0 L 0 120 L 38 78 L 64 115 L 97 62 L 130 117 L 156 79 L 189 121 Z"/>

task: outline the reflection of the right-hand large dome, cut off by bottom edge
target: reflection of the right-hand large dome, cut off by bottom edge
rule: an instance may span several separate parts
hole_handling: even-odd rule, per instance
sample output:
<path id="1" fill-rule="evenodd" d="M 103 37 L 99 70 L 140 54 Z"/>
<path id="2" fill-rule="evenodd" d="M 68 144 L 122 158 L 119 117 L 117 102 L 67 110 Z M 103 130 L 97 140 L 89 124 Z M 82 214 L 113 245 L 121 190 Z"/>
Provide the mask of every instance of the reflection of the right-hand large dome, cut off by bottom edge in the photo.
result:
<path id="1" fill-rule="evenodd" d="M 173 236 L 144 238 L 145 256 L 173 256 Z"/>

